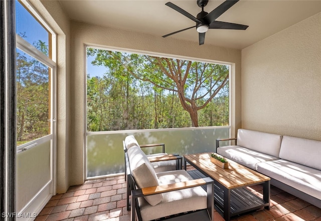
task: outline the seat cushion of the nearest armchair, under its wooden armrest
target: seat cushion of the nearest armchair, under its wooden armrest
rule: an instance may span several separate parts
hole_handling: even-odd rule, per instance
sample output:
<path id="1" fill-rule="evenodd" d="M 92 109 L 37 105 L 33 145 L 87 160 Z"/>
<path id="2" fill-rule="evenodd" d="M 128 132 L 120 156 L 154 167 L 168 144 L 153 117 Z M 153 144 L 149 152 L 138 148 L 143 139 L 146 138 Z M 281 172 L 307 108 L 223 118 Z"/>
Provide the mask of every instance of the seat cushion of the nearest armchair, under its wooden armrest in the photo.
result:
<path id="1" fill-rule="evenodd" d="M 193 179 L 183 169 L 160 172 L 157 173 L 157 177 L 160 185 Z M 144 198 L 138 199 L 143 221 L 207 208 L 207 193 L 201 186 L 163 193 L 163 200 L 154 206 Z"/>

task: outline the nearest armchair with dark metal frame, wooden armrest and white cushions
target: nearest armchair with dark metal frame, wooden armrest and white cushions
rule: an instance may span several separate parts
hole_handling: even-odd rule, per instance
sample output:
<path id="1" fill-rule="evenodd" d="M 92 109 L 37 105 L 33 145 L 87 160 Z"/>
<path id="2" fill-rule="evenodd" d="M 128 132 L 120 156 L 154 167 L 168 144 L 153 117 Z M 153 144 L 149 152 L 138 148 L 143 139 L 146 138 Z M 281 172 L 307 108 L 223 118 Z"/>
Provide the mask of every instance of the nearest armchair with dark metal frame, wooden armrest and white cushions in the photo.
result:
<path id="1" fill-rule="evenodd" d="M 213 220 L 214 181 L 186 170 L 155 172 L 139 146 L 125 152 L 131 190 L 131 220 Z M 207 191 L 201 186 L 206 185 Z"/>

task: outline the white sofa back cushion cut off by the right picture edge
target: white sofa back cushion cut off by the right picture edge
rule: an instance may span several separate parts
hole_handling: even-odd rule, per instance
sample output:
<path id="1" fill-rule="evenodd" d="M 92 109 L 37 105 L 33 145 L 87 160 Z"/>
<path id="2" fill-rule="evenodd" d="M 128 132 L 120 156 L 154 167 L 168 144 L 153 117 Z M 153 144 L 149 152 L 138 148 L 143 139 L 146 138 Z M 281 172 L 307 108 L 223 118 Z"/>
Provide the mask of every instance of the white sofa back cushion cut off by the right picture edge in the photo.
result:
<path id="1" fill-rule="evenodd" d="M 321 169 L 321 141 L 283 136 L 280 158 Z"/>

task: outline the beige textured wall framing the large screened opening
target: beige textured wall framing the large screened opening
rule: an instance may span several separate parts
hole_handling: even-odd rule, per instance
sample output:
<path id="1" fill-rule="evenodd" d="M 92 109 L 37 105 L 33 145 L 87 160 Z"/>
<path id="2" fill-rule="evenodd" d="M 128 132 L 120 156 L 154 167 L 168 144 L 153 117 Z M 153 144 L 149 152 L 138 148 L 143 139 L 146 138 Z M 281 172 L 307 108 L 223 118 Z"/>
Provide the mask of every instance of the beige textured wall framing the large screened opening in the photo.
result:
<path id="1" fill-rule="evenodd" d="M 240 106 L 240 71 L 241 51 L 197 42 L 163 38 L 150 34 L 120 30 L 72 21 L 71 23 L 71 183 L 83 182 L 84 169 L 84 140 L 85 140 L 85 45 L 108 46 L 114 48 L 129 48 L 136 51 L 173 54 L 184 57 L 194 57 L 216 61 L 235 63 L 235 90 L 236 110 L 234 114 L 234 127 L 241 124 Z"/>

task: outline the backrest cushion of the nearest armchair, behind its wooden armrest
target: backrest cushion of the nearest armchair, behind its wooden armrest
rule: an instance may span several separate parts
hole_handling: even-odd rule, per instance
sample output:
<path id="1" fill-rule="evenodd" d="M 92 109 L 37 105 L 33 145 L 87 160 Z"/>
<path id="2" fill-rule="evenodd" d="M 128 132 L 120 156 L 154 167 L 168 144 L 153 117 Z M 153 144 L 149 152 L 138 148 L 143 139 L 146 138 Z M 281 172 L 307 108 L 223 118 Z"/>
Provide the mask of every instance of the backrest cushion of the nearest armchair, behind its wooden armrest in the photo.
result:
<path id="1" fill-rule="evenodd" d="M 132 176 L 139 188 L 158 185 L 158 179 L 151 163 L 139 146 L 131 146 L 128 150 L 129 166 Z M 150 205 L 156 205 L 163 200 L 162 194 L 144 197 Z"/>

